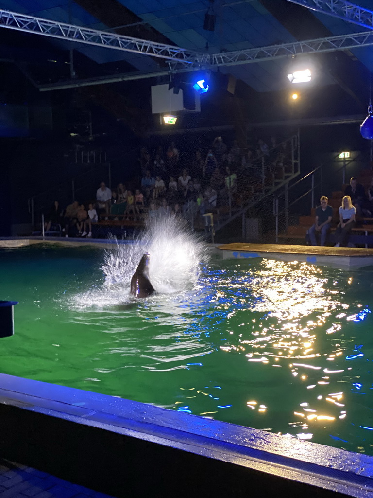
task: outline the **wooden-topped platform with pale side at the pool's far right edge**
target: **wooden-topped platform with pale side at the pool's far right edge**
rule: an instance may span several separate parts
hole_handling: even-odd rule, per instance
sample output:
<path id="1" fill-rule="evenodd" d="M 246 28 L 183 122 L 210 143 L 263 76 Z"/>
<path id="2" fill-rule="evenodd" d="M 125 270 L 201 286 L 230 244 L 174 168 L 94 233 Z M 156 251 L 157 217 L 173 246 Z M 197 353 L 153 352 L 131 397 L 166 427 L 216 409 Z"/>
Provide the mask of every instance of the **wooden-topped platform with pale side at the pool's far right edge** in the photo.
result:
<path id="1" fill-rule="evenodd" d="M 223 259 L 266 257 L 343 269 L 373 266 L 373 249 L 246 243 L 224 244 L 217 249 L 222 251 Z"/>

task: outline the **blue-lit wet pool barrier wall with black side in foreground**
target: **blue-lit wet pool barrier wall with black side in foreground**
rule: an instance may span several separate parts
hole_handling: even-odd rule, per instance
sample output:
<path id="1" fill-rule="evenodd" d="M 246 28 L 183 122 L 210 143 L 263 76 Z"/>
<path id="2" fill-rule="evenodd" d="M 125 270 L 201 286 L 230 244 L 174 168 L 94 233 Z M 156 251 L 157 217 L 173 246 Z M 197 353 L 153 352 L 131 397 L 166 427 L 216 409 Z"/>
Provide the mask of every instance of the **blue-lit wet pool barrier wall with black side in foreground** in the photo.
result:
<path id="1" fill-rule="evenodd" d="M 0 456 L 116 497 L 373 497 L 373 457 L 0 374 Z"/>

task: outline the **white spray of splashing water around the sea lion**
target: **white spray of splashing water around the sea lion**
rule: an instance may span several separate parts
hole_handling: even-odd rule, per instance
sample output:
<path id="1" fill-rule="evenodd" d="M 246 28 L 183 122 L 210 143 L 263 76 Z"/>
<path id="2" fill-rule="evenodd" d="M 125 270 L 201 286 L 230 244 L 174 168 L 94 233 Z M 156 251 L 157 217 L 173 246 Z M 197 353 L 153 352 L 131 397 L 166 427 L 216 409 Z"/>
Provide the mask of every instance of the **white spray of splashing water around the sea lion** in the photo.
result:
<path id="1" fill-rule="evenodd" d="M 191 232 L 182 219 L 166 216 L 150 220 L 133 244 L 108 249 L 101 266 L 105 284 L 126 284 L 144 252 L 149 252 L 149 279 L 157 292 L 191 289 L 199 276 L 199 263 L 208 260 L 207 244 Z"/>

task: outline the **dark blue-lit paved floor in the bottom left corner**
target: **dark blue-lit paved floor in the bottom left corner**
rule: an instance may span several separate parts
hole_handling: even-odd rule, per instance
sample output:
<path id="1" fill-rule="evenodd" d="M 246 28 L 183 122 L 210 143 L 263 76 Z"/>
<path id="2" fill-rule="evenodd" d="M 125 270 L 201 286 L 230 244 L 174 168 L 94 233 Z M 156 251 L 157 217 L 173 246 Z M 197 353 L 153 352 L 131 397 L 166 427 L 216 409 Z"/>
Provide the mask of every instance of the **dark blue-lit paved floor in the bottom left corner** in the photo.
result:
<path id="1" fill-rule="evenodd" d="M 1 498 L 113 498 L 0 458 Z"/>

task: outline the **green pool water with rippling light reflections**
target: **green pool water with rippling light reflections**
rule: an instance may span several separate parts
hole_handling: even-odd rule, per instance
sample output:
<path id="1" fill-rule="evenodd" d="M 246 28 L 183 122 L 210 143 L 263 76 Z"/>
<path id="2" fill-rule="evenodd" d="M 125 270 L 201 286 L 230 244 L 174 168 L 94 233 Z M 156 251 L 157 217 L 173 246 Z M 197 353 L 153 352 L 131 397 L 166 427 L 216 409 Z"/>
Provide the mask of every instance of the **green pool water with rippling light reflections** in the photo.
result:
<path id="1" fill-rule="evenodd" d="M 0 249 L 0 371 L 373 454 L 372 268 L 211 260 L 132 302 L 103 249 Z"/>

